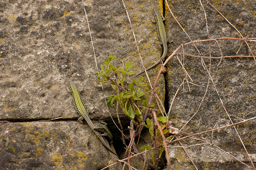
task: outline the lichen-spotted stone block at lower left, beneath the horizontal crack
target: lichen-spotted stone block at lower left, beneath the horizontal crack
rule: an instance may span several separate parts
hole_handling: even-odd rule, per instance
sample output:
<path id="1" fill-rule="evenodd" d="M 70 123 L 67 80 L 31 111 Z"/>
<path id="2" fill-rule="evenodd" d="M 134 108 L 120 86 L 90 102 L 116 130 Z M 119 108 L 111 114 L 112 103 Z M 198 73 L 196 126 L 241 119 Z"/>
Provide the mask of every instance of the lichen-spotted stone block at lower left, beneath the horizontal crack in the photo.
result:
<path id="1" fill-rule="evenodd" d="M 1 123 L 0 128 L 0 169 L 101 169 L 117 160 L 77 122 Z"/>

